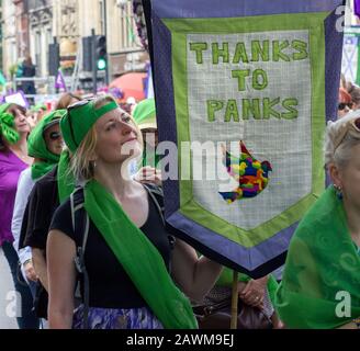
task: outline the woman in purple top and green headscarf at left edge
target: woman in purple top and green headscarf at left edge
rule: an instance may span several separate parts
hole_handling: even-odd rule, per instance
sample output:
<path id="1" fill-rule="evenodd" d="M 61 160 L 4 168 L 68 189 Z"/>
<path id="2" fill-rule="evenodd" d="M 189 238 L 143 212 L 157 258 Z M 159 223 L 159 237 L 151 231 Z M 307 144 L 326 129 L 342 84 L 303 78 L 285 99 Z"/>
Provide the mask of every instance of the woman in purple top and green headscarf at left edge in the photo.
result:
<path id="1" fill-rule="evenodd" d="M 26 109 L 14 103 L 0 105 L 0 247 L 9 263 L 19 299 L 22 301 L 19 306 L 21 314 L 16 318 L 20 329 L 38 327 L 38 320 L 32 312 L 30 288 L 16 274 L 19 257 L 11 231 L 19 177 L 33 161 L 27 156 L 29 132 Z"/>

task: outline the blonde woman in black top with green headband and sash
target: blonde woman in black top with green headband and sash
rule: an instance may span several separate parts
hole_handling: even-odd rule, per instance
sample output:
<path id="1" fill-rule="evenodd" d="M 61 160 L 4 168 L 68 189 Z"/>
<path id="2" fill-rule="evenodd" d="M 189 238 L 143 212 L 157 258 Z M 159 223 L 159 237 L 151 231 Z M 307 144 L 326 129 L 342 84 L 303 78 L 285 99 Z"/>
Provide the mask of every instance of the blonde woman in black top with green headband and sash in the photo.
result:
<path id="1" fill-rule="evenodd" d="M 196 328 L 189 299 L 177 285 L 200 299 L 222 267 L 198 259 L 179 239 L 172 249 L 156 202 L 127 173 L 132 157 L 142 152 L 133 118 L 113 98 L 101 97 L 69 107 L 60 126 L 72 152 L 72 173 L 87 181 L 89 328 Z M 82 326 L 85 306 L 74 314 L 74 260 L 81 244 L 69 200 L 56 211 L 47 241 L 50 328 Z"/>

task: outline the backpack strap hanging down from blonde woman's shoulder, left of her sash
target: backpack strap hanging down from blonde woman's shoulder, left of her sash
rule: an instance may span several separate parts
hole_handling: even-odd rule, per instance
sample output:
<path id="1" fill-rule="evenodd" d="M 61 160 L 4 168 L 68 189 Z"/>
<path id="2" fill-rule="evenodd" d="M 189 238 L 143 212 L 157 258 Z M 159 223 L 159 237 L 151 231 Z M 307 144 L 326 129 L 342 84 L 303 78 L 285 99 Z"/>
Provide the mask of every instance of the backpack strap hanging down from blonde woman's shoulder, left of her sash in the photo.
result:
<path id="1" fill-rule="evenodd" d="M 78 271 L 78 283 L 80 276 L 83 279 L 83 324 L 88 329 L 89 322 L 89 275 L 85 265 L 85 251 L 89 236 L 89 215 L 85 210 L 83 188 L 77 188 L 70 195 L 72 229 L 77 237 L 82 238 L 82 244 L 77 247 L 75 267 Z"/>

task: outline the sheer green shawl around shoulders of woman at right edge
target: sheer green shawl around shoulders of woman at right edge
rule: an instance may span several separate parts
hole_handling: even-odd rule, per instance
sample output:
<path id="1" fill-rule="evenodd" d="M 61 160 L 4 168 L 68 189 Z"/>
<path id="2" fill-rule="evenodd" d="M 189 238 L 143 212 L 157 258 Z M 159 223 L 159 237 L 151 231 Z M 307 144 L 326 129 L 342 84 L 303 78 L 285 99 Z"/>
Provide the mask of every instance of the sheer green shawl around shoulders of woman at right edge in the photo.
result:
<path id="1" fill-rule="evenodd" d="M 337 316 L 339 292 L 350 294 L 350 317 Z M 360 257 L 334 186 L 305 215 L 291 240 L 275 308 L 289 328 L 330 329 L 360 317 Z"/>

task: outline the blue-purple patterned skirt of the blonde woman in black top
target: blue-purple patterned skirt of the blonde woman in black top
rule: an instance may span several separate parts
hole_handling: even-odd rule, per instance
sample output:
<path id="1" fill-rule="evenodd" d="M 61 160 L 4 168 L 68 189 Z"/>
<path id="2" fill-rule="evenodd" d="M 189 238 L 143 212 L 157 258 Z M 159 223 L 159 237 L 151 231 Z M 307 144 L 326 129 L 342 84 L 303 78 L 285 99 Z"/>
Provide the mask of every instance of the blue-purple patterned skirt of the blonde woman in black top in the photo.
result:
<path id="1" fill-rule="evenodd" d="M 72 329 L 82 329 L 83 305 L 74 312 Z M 100 308 L 89 307 L 89 329 L 164 329 L 161 322 L 147 307 Z"/>

